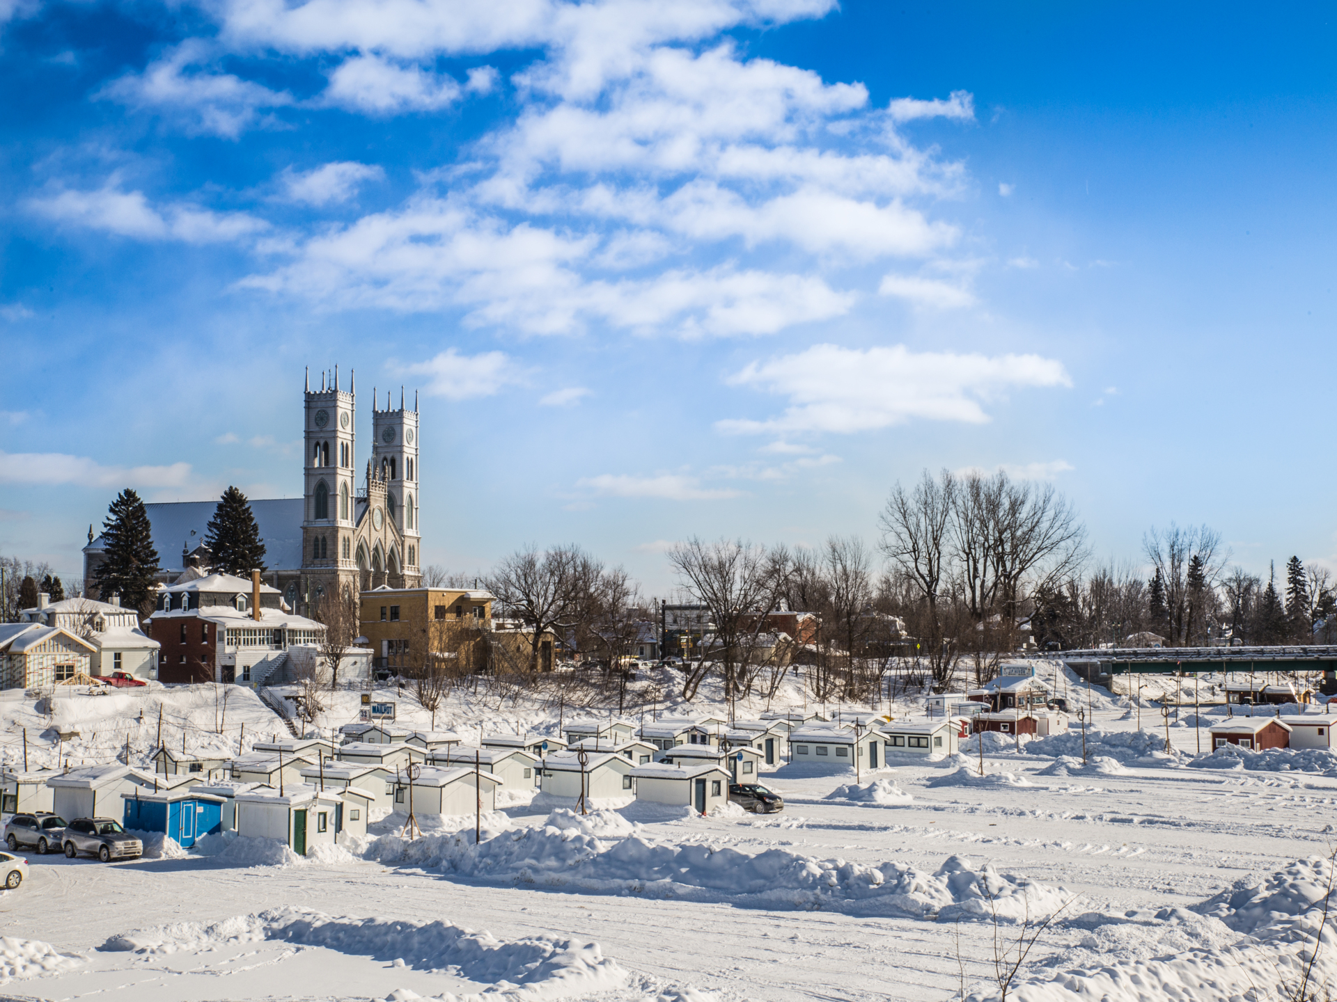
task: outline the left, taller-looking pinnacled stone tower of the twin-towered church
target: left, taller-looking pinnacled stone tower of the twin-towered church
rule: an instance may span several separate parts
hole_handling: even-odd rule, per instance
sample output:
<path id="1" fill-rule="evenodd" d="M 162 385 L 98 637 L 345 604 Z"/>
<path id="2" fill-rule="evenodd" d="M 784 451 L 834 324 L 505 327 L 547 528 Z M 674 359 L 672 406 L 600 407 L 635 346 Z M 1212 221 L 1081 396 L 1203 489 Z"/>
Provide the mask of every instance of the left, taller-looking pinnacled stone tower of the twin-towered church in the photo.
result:
<path id="1" fill-rule="evenodd" d="M 298 609 L 310 615 L 326 592 L 348 585 L 357 588 L 353 560 L 356 528 L 354 410 L 353 375 L 348 390 L 340 387 L 338 366 L 321 374 L 321 386 L 312 389 L 306 374 L 303 413 L 303 497 L 302 588 Z"/>

